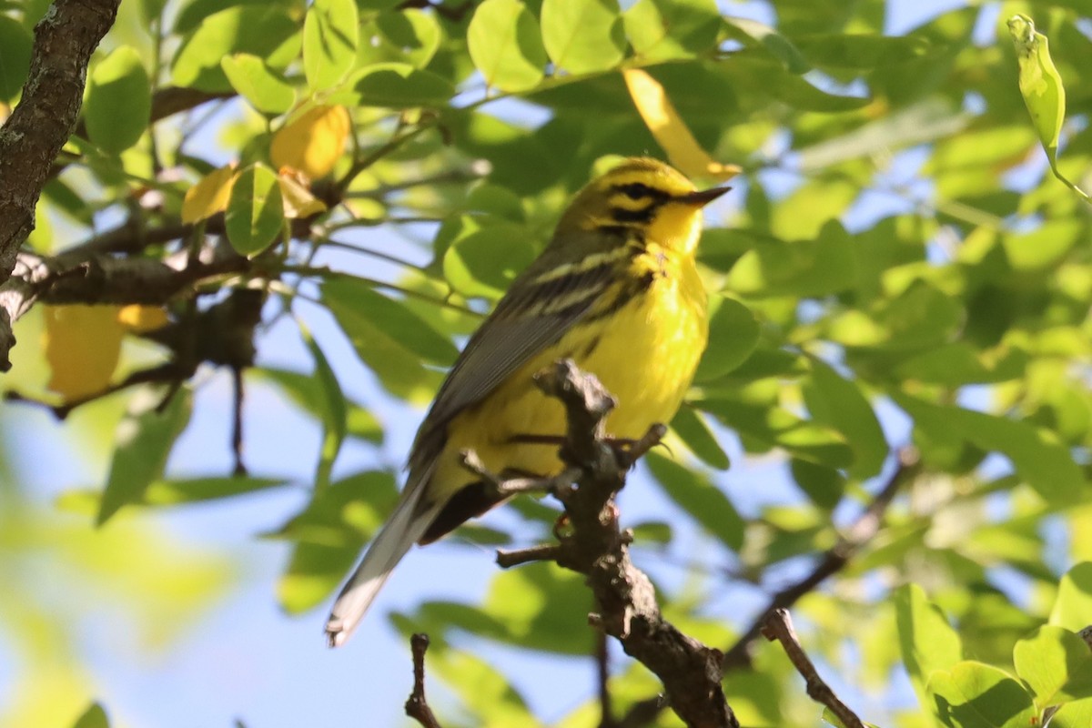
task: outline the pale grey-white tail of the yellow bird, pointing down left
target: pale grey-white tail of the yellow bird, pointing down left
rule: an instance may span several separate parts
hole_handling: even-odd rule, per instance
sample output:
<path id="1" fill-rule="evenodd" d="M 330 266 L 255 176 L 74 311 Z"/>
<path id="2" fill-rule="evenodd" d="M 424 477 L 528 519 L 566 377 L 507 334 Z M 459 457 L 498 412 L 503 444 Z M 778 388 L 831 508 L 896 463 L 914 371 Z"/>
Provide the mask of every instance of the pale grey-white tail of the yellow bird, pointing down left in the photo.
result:
<path id="1" fill-rule="evenodd" d="M 428 529 L 439 506 L 418 512 L 417 501 L 424 488 L 414 488 L 399 502 L 379 535 L 368 547 L 367 553 L 342 588 L 327 620 L 327 640 L 331 647 L 340 647 L 352 636 L 365 612 L 371 606 L 391 571 Z"/>

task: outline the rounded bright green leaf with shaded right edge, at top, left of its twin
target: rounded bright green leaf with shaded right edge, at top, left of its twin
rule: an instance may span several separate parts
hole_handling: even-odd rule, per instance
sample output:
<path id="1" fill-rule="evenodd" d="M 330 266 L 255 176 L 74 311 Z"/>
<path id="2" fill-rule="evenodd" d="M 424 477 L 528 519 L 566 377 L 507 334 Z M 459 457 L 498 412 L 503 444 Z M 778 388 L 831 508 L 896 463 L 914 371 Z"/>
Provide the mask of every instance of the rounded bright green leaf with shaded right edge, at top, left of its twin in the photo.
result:
<path id="1" fill-rule="evenodd" d="M 538 22 L 520 0 L 485 0 L 471 19 L 466 44 L 490 86 L 521 92 L 543 80 L 547 58 Z"/>

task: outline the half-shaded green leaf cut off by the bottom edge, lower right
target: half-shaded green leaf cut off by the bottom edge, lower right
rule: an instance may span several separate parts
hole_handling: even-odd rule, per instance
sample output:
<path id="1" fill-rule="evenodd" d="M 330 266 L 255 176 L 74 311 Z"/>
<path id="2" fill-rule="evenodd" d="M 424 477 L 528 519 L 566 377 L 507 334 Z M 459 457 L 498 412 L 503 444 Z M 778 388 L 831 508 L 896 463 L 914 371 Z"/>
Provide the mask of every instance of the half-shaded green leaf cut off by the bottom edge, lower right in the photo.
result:
<path id="1" fill-rule="evenodd" d="M 929 676 L 935 709 L 950 728 L 1026 728 L 1037 718 L 1031 695 L 1007 672 L 965 660 Z"/>

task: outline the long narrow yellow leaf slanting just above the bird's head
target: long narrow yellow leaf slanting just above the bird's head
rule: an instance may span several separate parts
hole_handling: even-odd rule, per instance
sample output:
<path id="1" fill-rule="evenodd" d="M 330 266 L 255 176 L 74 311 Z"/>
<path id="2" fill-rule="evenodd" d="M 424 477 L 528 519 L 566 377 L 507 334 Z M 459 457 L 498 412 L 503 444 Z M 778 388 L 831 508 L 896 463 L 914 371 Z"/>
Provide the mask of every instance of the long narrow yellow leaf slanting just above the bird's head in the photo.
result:
<path id="1" fill-rule="evenodd" d="M 719 180 L 732 179 L 741 171 L 736 165 L 721 164 L 705 154 L 658 81 L 640 69 L 626 69 L 622 76 L 638 114 L 679 171 Z"/>

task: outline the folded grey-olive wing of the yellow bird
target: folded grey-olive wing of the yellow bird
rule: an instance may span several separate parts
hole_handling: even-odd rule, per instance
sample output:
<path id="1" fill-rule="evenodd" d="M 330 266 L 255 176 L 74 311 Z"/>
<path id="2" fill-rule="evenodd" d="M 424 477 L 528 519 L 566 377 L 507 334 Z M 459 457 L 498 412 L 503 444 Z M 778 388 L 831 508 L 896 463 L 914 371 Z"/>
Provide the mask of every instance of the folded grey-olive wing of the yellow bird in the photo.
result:
<path id="1" fill-rule="evenodd" d="M 615 264 L 604 261 L 536 283 L 553 270 L 551 262 L 546 255 L 536 261 L 467 342 L 417 432 L 410 454 L 410 484 L 422 480 L 415 473 L 435 464 L 447 441 L 448 422 L 556 343 L 594 307 L 614 277 Z"/>

